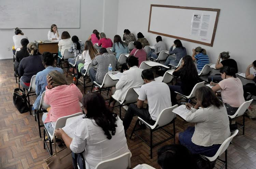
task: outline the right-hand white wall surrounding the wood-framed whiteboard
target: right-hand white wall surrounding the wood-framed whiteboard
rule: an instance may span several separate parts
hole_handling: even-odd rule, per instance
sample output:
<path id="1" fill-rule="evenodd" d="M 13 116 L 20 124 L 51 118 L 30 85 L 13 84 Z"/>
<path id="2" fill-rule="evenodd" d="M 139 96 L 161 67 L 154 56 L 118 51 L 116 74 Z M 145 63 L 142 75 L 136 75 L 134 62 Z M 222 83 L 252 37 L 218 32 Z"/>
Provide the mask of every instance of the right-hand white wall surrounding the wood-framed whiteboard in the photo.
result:
<path id="1" fill-rule="evenodd" d="M 124 29 L 129 29 L 137 37 L 137 33 L 142 32 L 150 44 L 154 45 L 158 35 L 147 32 L 151 4 L 221 9 L 213 47 L 182 41 L 187 54 L 191 55 L 193 48 L 201 46 L 207 50 L 210 62 L 215 63 L 219 53 L 229 51 L 231 58 L 238 62 L 238 69 L 241 72 L 245 72 L 247 65 L 256 59 L 255 0 L 119 0 L 117 33 L 123 35 Z M 159 19 L 171 22 L 172 16 Z M 162 38 L 169 50 L 175 39 L 163 36 Z"/>

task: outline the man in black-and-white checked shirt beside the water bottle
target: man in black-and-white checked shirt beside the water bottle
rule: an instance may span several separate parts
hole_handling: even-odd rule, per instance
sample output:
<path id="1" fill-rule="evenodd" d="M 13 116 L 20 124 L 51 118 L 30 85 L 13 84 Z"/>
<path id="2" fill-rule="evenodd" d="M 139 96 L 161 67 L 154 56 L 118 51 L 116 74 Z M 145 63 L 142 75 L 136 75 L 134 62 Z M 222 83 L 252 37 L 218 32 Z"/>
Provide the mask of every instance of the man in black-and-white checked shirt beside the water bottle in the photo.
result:
<path id="1" fill-rule="evenodd" d="M 109 64 L 112 65 L 112 70 L 114 71 L 118 68 L 118 63 L 115 55 L 108 54 L 106 48 L 101 48 L 99 54 L 91 61 L 91 65 L 97 65 L 97 71 L 94 69 L 89 70 L 89 75 L 91 81 L 97 81 L 98 83 L 102 83 L 103 79 L 108 73 Z M 94 87 L 93 91 L 98 91 L 99 87 Z"/>

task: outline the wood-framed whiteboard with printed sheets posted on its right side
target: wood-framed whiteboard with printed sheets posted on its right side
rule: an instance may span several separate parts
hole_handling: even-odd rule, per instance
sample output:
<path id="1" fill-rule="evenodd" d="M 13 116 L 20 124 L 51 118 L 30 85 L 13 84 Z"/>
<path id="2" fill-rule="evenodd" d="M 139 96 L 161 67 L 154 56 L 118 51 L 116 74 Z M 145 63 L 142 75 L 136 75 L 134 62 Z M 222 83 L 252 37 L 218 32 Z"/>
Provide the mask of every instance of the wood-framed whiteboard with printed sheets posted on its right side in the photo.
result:
<path id="1" fill-rule="evenodd" d="M 148 32 L 213 46 L 218 13 L 219 9 L 151 4 Z"/>

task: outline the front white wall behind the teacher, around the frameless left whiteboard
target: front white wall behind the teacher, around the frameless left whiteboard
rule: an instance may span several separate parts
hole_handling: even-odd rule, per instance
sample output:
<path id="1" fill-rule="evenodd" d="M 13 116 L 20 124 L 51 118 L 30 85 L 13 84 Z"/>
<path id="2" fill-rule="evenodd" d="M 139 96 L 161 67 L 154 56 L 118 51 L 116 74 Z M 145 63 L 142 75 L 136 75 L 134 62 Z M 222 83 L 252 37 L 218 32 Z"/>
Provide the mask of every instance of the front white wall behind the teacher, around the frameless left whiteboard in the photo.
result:
<path id="1" fill-rule="evenodd" d="M 94 29 L 97 29 L 99 32 L 102 32 L 104 29 L 104 1 L 105 0 L 81 0 L 80 29 L 59 29 L 59 31 L 68 31 L 71 37 L 73 35 L 76 35 L 79 37 L 79 39 L 83 40 L 83 42 L 87 40 L 88 36 L 93 32 Z M 108 15 L 111 15 L 111 12 Z M 31 22 L 35 22 L 36 24 L 36 21 Z M 50 26 L 51 25 L 49 25 L 49 27 Z M 115 27 L 117 27 L 117 18 Z M 107 29 L 108 26 L 105 26 L 105 28 Z M 49 29 L 22 29 L 24 35 L 28 36 L 29 41 L 46 40 L 48 30 Z M 0 30 L 0 59 L 12 58 L 13 35 L 14 29 Z M 11 51 L 8 51 L 8 48 L 11 48 Z"/>

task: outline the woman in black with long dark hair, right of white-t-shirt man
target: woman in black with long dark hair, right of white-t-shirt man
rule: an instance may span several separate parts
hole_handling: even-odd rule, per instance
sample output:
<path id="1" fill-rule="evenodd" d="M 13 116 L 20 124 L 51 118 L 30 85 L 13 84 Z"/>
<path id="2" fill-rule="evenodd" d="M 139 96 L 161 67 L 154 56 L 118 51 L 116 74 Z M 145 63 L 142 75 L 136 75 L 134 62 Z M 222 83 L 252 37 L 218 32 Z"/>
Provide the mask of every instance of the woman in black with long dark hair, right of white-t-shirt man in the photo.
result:
<path id="1" fill-rule="evenodd" d="M 175 92 L 188 96 L 194 86 L 199 82 L 196 66 L 191 56 L 187 55 L 182 58 L 181 65 L 173 72 L 173 76 L 180 77 L 180 82 L 176 82 L 175 85 L 169 86 L 172 103 L 173 105 L 176 105 L 177 94 Z"/>

